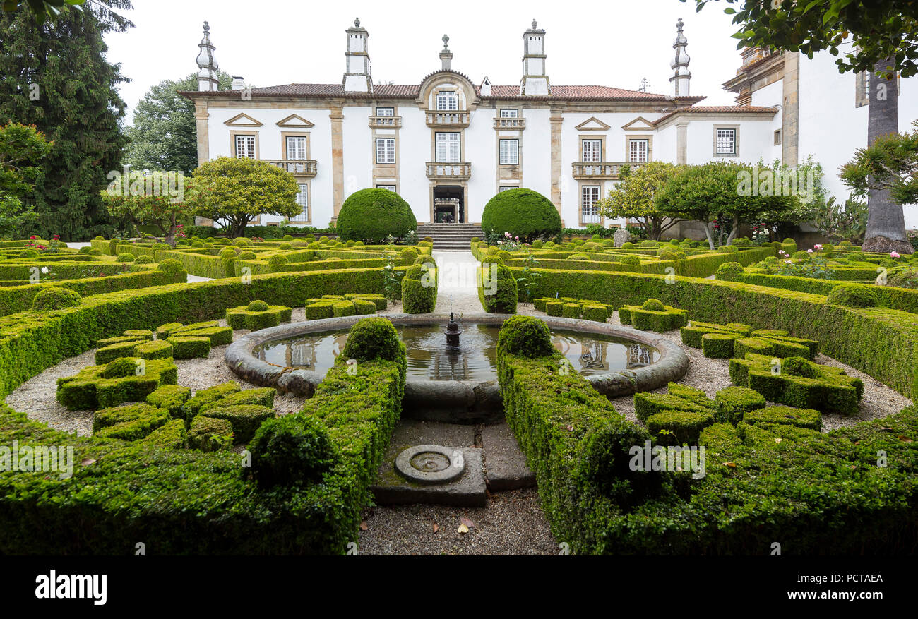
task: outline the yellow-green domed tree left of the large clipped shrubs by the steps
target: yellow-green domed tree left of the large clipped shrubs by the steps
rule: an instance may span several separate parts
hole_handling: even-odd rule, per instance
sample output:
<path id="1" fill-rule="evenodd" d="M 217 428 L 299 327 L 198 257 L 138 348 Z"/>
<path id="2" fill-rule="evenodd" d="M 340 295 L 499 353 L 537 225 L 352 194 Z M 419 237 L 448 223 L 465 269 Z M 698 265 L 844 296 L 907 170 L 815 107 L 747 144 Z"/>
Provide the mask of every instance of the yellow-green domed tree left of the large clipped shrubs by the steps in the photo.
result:
<path id="1" fill-rule="evenodd" d="M 243 236 L 257 216 L 293 217 L 302 210 L 293 174 L 267 161 L 218 157 L 202 163 L 185 185 L 193 212 L 226 227 L 231 238 Z"/>

